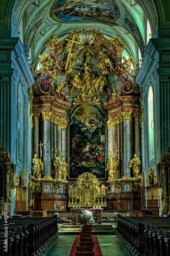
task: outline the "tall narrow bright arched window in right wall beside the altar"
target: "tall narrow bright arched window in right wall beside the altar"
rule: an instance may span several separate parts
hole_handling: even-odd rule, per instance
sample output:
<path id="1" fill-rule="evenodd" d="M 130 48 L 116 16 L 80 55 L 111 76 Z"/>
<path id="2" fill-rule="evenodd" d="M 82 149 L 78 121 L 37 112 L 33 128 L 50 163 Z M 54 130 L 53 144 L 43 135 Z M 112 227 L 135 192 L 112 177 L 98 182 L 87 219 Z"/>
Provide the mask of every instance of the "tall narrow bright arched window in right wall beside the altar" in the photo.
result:
<path id="1" fill-rule="evenodd" d="M 148 130 L 149 130 L 149 160 L 154 158 L 154 103 L 153 90 L 150 86 L 148 93 Z"/>

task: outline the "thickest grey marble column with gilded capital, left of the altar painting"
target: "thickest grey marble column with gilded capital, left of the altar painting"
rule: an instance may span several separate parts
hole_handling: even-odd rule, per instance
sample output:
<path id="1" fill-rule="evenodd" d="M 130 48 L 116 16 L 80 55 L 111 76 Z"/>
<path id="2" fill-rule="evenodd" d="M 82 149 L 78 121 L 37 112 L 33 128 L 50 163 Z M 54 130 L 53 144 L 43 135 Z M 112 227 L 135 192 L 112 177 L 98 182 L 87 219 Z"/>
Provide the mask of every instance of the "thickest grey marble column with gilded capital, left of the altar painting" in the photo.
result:
<path id="1" fill-rule="evenodd" d="M 43 163 L 44 163 L 44 177 L 50 177 L 51 174 L 51 113 L 43 112 Z"/>

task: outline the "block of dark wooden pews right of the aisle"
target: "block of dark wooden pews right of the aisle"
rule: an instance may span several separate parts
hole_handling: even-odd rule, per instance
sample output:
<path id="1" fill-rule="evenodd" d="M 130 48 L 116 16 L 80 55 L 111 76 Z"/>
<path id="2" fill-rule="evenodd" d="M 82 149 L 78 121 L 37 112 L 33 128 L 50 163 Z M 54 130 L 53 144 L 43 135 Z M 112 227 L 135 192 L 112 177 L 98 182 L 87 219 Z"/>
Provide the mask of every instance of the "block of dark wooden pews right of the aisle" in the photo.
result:
<path id="1" fill-rule="evenodd" d="M 170 255 L 170 218 L 117 215 L 117 238 L 138 256 Z"/>

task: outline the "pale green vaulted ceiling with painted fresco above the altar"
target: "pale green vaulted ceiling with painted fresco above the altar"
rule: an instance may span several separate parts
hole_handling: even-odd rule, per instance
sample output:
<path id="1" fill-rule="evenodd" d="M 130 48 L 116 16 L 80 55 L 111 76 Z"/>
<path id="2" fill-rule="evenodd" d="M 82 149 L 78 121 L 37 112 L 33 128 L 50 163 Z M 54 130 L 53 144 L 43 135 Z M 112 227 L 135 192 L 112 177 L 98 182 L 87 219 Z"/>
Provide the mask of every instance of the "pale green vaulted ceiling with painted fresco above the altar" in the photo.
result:
<path id="1" fill-rule="evenodd" d="M 52 35 L 57 35 L 60 41 L 75 28 L 86 27 L 88 30 L 94 26 L 108 39 L 119 35 L 126 45 L 124 54 L 139 63 L 148 39 L 158 36 L 158 28 L 170 24 L 167 13 L 170 3 L 167 2 L 6 0 L 0 11 L 0 24 L 12 27 L 12 37 L 20 38 L 28 60 L 35 65 L 39 61 L 38 55 L 47 51 L 45 45 Z"/>

